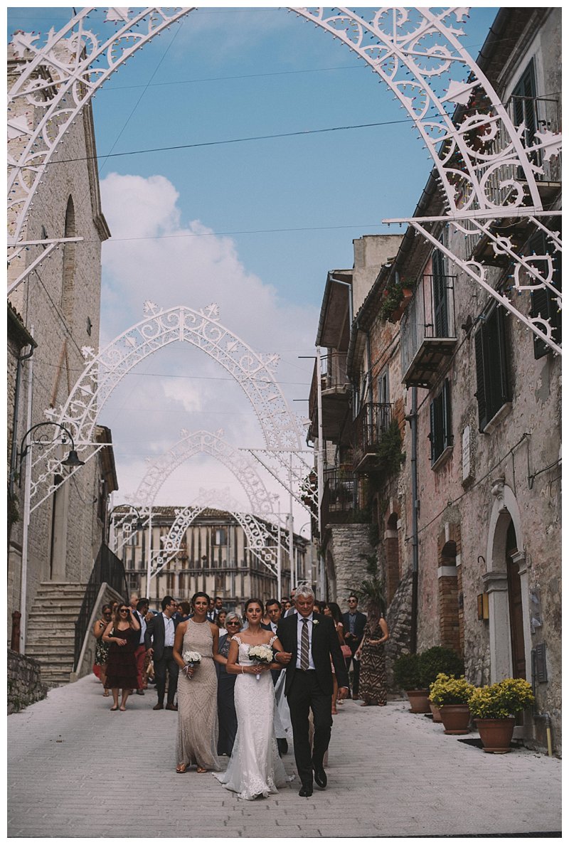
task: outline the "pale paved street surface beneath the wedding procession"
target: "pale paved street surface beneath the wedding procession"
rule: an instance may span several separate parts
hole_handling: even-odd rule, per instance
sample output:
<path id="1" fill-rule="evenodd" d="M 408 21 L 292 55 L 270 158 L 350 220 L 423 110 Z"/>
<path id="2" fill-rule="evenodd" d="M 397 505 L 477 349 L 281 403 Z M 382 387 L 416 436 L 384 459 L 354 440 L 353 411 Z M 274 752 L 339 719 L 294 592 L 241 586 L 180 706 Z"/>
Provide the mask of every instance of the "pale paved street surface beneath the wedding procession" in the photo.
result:
<path id="1" fill-rule="evenodd" d="M 174 771 L 177 715 L 156 693 L 110 712 L 94 676 L 8 717 L 8 837 L 426 837 L 561 831 L 561 761 L 488 755 L 404 701 L 334 719 L 328 788 L 240 801 Z M 472 739 L 478 734 L 470 734 Z M 285 758 L 289 773 L 293 754 Z"/>

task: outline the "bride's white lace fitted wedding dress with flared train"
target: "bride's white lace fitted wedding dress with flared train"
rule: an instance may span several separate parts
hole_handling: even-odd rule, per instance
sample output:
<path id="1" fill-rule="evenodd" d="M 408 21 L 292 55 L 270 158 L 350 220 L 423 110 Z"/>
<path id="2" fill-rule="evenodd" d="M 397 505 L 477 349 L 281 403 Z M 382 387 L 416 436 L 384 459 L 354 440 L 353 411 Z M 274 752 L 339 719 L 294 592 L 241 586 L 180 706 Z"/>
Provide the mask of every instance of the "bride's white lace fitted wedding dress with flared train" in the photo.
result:
<path id="1" fill-rule="evenodd" d="M 240 665 L 252 666 L 249 646 L 237 635 L 233 639 L 239 644 Z M 276 637 L 271 639 L 271 645 L 274 640 Z M 213 777 L 237 793 L 238 798 L 247 801 L 260 795 L 266 798 L 294 777 L 287 776 L 276 747 L 275 691 L 270 672 L 260 673 L 259 680 L 253 673 L 238 674 L 235 711 L 238 727 L 233 754 L 226 771 L 212 772 Z"/>

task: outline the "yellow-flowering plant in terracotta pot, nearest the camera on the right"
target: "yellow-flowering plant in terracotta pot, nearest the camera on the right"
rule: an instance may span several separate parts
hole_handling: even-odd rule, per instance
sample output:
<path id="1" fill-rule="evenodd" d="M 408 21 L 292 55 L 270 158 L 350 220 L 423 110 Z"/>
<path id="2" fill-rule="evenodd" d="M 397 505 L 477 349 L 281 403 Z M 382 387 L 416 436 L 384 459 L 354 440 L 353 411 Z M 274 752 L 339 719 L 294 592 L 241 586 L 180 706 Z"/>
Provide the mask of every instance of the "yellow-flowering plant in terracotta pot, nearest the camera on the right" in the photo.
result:
<path id="1" fill-rule="evenodd" d="M 516 723 L 515 714 L 533 704 L 531 684 L 522 678 L 506 678 L 497 684 L 475 687 L 470 711 L 487 754 L 506 754 Z"/>

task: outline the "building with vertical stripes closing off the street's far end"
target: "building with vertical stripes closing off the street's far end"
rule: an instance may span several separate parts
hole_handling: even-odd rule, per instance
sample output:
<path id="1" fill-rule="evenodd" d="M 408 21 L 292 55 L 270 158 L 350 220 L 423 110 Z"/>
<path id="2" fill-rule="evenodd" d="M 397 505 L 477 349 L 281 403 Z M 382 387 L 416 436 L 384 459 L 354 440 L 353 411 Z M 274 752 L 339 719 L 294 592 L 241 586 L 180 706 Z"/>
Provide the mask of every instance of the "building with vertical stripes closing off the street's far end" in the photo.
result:
<path id="1" fill-rule="evenodd" d="M 166 506 L 153 508 L 153 551 L 162 548 L 161 542 L 167 537 L 177 510 Z M 120 513 L 118 509 L 118 515 Z M 148 529 L 134 530 L 122 548 L 122 531 L 119 530 L 117 542 L 129 590 L 139 597 L 145 596 Z M 282 596 L 287 597 L 292 581 L 287 536 L 283 535 L 283 542 L 281 583 Z M 295 534 L 293 553 L 298 581 L 309 581 L 309 541 Z M 227 609 L 237 608 L 238 611 L 248 598 L 259 597 L 265 602 L 277 596 L 276 575 L 251 551 L 243 525 L 233 514 L 206 508 L 195 517 L 184 532 L 178 553 L 152 577 L 150 607 L 160 609 L 161 598 L 167 595 L 178 601 L 189 601 L 198 591 L 211 597 L 221 596 Z"/>

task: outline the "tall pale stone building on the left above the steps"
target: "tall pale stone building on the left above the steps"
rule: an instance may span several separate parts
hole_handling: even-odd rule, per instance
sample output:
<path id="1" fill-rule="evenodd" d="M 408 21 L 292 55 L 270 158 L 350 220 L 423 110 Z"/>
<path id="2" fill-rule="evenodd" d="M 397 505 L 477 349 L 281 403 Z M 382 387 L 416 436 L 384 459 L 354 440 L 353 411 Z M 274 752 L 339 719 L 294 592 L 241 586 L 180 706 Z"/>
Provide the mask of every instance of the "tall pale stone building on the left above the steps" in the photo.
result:
<path id="1" fill-rule="evenodd" d="M 25 57 L 8 52 L 8 86 Z M 45 68 L 39 68 L 44 74 Z M 47 74 L 47 70 L 45 71 Z M 45 76 L 45 74 L 44 74 Z M 29 126 L 40 119 L 41 110 L 26 102 L 14 106 L 13 122 L 25 119 Z M 8 151 L 19 152 L 23 136 L 12 137 Z M 8 214 L 8 234 L 14 219 Z M 85 367 L 82 347 L 98 348 L 101 294 L 101 243 L 109 237 L 101 212 L 96 165 L 95 134 L 90 106 L 85 106 L 61 142 L 54 163 L 47 166 L 22 232 L 24 241 L 58 237 L 82 237 L 66 243 L 33 270 L 11 294 L 10 303 L 21 324 L 33 338 L 33 355 L 18 364 L 18 357 L 30 346 L 8 350 L 8 455 L 19 450 L 21 440 L 36 423 L 46 423 L 47 409 L 58 410 L 67 401 L 79 374 Z M 41 244 L 30 245 L 8 267 L 8 283 L 15 281 L 42 251 Z M 19 371 L 19 401 L 11 385 Z M 15 436 L 14 436 L 15 425 Z M 44 429 L 44 432 L 48 429 Z M 42 582 L 85 584 L 96 554 L 104 541 L 107 496 L 117 488 L 110 436 L 99 430 L 108 442 L 99 460 L 93 459 L 76 472 L 69 482 L 30 515 L 27 540 L 27 587 L 21 590 L 21 518 L 14 521 L 8 548 L 8 640 L 11 613 L 22 612 L 25 648 L 25 620 L 33 608 Z M 109 433 L 110 434 L 110 433 Z M 51 431 L 50 431 L 51 436 Z M 26 441 L 27 443 L 28 441 Z M 39 447 L 35 447 L 38 454 Z M 103 456 L 104 455 L 104 456 Z M 8 463 L 10 458 L 8 457 Z M 15 470 L 19 475 L 19 461 Z M 25 462 L 22 466 L 25 470 Z M 14 478 L 14 476 L 13 476 Z M 14 488 L 15 507 L 23 512 L 24 485 L 19 478 Z"/>

